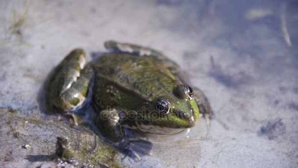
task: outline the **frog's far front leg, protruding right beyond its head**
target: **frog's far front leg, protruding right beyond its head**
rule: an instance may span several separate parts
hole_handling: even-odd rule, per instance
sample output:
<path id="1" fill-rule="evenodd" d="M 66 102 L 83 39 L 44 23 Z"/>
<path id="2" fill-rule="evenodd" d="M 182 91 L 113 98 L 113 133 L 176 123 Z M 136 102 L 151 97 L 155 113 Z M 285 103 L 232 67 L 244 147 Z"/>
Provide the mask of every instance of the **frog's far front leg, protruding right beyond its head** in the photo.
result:
<path id="1" fill-rule="evenodd" d="M 197 87 L 194 87 L 194 99 L 199 107 L 200 114 L 202 114 L 203 117 L 206 119 L 207 126 L 208 128 L 210 128 L 210 120 L 213 118 L 214 113 L 211 109 L 208 98 L 205 96 L 203 91 L 201 91 Z"/>

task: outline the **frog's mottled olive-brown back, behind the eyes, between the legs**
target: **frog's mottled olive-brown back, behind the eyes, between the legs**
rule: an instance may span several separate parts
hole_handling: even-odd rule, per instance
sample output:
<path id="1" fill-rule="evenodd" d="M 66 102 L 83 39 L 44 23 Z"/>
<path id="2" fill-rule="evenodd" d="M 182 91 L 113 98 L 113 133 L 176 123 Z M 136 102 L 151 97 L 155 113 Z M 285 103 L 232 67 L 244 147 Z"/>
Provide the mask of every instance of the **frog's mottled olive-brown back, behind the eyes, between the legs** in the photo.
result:
<path id="1" fill-rule="evenodd" d="M 116 91 L 124 90 L 139 100 L 152 101 L 161 95 L 171 95 L 173 88 L 178 85 L 163 63 L 149 56 L 109 53 L 99 57 L 94 69 L 95 81 L 98 83 L 96 86 L 101 87 L 98 88 L 101 94 L 103 88 L 113 85 L 118 87 Z"/>

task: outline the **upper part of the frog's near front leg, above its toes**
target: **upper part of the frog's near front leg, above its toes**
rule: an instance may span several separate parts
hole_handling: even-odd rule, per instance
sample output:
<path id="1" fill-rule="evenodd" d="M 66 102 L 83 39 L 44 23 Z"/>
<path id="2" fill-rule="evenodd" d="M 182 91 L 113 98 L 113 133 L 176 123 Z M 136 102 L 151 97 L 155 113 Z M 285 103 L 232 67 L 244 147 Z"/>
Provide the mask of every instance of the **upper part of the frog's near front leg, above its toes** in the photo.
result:
<path id="1" fill-rule="evenodd" d="M 120 142 L 125 135 L 119 123 L 119 110 L 107 109 L 99 113 L 96 124 L 101 134 L 112 142 Z"/>

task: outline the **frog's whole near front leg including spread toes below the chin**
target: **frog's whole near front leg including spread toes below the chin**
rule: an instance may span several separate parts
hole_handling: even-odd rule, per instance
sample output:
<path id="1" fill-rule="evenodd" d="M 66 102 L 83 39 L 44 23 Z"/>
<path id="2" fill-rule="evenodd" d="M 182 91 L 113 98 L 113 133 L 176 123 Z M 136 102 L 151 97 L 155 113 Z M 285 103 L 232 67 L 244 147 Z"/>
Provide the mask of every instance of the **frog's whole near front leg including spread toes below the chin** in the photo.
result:
<path id="1" fill-rule="evenodd" d="M 130 135 L 128 130 L 120 125 L 120 112 L 116 109 L 101 111 L 96 121 L 99 132 L 109 142 L 132 158 L 141 160 L 140 155 L 151 155 L 151 142 Z"/>

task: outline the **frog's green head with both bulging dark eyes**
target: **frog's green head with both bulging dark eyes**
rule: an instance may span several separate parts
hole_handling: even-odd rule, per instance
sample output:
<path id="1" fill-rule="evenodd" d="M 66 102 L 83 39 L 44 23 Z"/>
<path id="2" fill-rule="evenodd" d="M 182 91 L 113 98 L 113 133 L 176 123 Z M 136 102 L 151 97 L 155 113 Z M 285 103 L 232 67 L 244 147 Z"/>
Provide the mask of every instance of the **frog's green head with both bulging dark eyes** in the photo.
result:
<path id="1" fill-rule="evenodd" d="M 149 111 L 143 111 L 137 120 L 138 129 L 155 134 L 174 134 L 195 126 L 199 108 L 193 94 L 190 86 L 181 84 L 175 86 L 171 94 L 156 98 L 147 104 Z"/>

